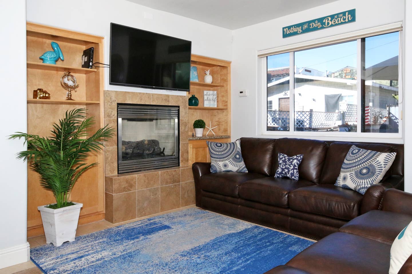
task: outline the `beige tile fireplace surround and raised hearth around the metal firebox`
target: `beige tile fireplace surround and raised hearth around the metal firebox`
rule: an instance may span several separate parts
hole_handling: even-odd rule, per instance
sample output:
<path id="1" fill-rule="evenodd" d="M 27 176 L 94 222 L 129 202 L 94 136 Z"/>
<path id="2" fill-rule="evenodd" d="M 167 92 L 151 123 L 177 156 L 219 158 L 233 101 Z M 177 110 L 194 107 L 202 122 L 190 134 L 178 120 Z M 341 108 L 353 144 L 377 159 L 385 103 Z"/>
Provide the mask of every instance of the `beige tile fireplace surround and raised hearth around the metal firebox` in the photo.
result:
<path id="1" fill-rule="evenodd" d="M 105 142 L 107 221 L 120 223 L 195 203 L 193 173 L 188 166 L 187 100 L 187 96 L 105 90 L 104 122 L 114 129 L 117 129 L 117 103 L 180 106 L 179 167 L 117 174 L 117 137 Z"/>

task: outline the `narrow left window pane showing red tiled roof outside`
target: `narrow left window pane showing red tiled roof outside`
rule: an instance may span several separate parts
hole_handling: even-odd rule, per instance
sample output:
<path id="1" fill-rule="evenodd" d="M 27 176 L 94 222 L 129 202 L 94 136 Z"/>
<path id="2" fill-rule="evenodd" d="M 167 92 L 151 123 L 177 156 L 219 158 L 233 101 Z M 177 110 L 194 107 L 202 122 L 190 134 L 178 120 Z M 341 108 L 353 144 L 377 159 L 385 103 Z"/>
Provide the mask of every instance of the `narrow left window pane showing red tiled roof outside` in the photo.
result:
<path id="1" fill-rule="evenodd" d="M 267 130 L 289 131 L 289 53 L 267 57 Z"/>

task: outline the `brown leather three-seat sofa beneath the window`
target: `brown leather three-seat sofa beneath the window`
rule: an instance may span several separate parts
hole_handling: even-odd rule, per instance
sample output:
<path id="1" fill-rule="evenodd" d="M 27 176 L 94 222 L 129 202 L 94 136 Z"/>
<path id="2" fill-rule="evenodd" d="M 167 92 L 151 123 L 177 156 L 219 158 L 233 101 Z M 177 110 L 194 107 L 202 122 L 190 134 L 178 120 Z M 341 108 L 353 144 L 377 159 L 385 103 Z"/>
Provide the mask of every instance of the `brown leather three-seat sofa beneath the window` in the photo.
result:
<path id="1" fill-rule="evenodd" d="M 403 189 L 403 145 L 349 143 L 298 138 L 241 138 L 248 173 L 211 173 L 210 163 L 192 166 L 196 205 L 264 226 L 321 239 L 351 219 L 379 209 L 385 189 Z M 397 152 L 384 179 L 365 195 L 335 187 L 352 145 Z M 274 178 L 278 152 L 304 154 L 299 180 Z"/>

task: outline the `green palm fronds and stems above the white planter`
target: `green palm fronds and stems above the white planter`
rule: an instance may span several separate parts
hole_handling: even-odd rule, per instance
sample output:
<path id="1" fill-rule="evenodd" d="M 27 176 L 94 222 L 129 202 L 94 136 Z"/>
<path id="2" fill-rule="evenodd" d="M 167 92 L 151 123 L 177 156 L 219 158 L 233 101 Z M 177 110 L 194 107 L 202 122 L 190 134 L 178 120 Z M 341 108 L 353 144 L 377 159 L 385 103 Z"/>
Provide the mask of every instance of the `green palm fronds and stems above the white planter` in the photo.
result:
<path id="1" fill-rule="evenodd" d="M 97 163 L 87 163 L 89 152 L 102 149 L 102 141 L 114 135 L 114 129 L 105 126 L 90 135 L 95 124 L 94 117 L 86 117 L 85 108 L 66 111 L 59 123 L 53 124 L 51 137 L 40 137 L 22 132 L 10 135 L 9 139 L 24 138 L 27 150 L 17 158 L 27 160 L 30 167 L 40 175 L 40 185 L 53 191 L 54 209 L 73 205 L 70 192 L 79 177 Z M 88 137 L 89 136 L 89 137 Z"/>

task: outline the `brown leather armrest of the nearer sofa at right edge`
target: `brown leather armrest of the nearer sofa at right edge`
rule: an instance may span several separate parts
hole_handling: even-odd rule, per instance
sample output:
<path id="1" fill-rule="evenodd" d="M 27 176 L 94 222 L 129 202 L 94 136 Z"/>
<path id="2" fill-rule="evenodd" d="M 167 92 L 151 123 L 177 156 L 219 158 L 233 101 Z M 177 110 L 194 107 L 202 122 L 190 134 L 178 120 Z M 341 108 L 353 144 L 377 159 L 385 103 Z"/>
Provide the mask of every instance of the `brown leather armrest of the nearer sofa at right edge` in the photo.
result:
<path id="1" fill-rule="evenodd" d="M 387 189 L 382 198 L 384 211 L 412 215 L 412 193 L 399 189 Z"/>

